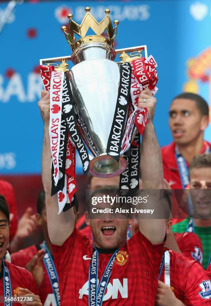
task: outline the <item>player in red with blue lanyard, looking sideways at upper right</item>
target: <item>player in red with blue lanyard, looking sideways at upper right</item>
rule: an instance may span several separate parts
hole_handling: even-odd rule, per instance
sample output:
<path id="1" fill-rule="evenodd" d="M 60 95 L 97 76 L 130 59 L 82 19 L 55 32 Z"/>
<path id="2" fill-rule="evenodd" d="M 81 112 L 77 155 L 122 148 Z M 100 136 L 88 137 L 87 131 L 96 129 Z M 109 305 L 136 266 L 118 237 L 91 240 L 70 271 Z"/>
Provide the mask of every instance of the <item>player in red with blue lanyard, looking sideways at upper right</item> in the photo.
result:
<path id="1" fill-rule="evenodd" d="M 194 156 L 211 152 L 211 143 L 204 140 L 208 124 L 209 106 L 203 97 L 185 92 L 173 99 L 169 125 L 174 141 L 161 149 L 164 177 L 172 189 L 188 185 L 188 167 Z"/>

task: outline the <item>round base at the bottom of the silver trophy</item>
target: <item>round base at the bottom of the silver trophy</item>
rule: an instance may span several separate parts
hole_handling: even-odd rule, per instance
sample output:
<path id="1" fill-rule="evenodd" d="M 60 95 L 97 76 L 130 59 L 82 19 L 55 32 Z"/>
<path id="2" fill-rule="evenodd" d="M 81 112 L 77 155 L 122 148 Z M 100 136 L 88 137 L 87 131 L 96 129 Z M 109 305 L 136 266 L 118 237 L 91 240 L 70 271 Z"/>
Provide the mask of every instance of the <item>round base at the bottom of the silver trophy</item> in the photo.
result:
<path id="1" fill-rule="evenodd" d="M 127 161 L 121 156 L 119 162 L 117 162 L 110 155 L 101 154 L 89 162 L 90 174 L 102 178 L 120 175 L 126 168 Z"/>

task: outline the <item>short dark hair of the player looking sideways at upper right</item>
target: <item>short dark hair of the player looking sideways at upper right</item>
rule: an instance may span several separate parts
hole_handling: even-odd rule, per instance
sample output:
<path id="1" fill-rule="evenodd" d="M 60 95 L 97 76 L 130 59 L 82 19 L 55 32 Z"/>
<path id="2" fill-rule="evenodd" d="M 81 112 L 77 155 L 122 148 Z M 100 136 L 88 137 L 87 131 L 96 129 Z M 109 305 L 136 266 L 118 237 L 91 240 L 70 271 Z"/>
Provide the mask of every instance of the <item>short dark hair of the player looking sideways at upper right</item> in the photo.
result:
<path id="1" fill-rule="evenodd" d="M 176 99 L 189 99 L 193 100 L 196 103 L 196 106 L 201 113 L 202 116 L 209 116 L 209 106 L 206 100 L 199 94 L 193 93 L 193 92 L 183 92 L 178 94 L 174 97 L 174 100 Z"/>

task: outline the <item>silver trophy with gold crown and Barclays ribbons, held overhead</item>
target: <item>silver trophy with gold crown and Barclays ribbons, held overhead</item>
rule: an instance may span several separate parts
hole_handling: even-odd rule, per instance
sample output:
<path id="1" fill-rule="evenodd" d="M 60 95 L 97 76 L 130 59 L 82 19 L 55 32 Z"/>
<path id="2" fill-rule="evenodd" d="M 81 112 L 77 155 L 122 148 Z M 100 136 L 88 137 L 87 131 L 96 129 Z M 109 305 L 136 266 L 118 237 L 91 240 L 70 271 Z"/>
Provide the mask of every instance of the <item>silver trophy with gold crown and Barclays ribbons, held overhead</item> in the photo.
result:
<path id="1" fill-rule="evenodd" d="M 146 46 L 119 50 L 122 60 L 115 62 L 113 44 L 119 21 L 112 26 L 109 9 L 100 22 L 89 7 L 85 10 L 80 25 L 68 14 L 68 28 L 62 26 L 75 65 L 67 69 L 70 56 L 40 60 L 43 83 L 50 91 L 52 194 L 58 193 L 59 211 L 68 199 L 74 200 L 75 149 L 84 173 L 99 177 L 121 174 L 121 189 L 138 188 L 139 133 L 148 114 L 146 108 L 138 109 L 137 102 L 143 89 L 157 90 L 157 64 L 152 56 L 147 57 Z M 87 35 L 89 28 L 95 34 Z M 50 65 L 59 59 L 59 66 Z"/>

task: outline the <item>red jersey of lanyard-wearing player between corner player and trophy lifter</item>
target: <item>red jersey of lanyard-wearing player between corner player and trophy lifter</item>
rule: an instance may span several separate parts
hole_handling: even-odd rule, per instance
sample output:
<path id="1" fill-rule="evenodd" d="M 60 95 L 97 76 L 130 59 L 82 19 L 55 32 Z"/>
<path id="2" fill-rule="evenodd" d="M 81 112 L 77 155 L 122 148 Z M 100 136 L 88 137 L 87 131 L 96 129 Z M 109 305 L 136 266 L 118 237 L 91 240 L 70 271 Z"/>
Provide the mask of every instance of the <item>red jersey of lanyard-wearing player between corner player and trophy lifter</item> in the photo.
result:
<path id="1" fill-rule="evenodd" d="M 26 247 L 24 249 L 19 250 L 18 252 L 12 253 L 11 262 L 18 266 L 25 267 L 26 264 L 37 252 L 38 248 L 36 247 L 36 245 Z M 41 286 L 38 289 L 41 302 L 45 306 L 56 306 L 56 301 L 51 287 L 50 279 L 48 277 L 48 273 L 44 263 L 42 264 L 42 266 L 44 270 L 44 278 L 41 283 Z"/>

